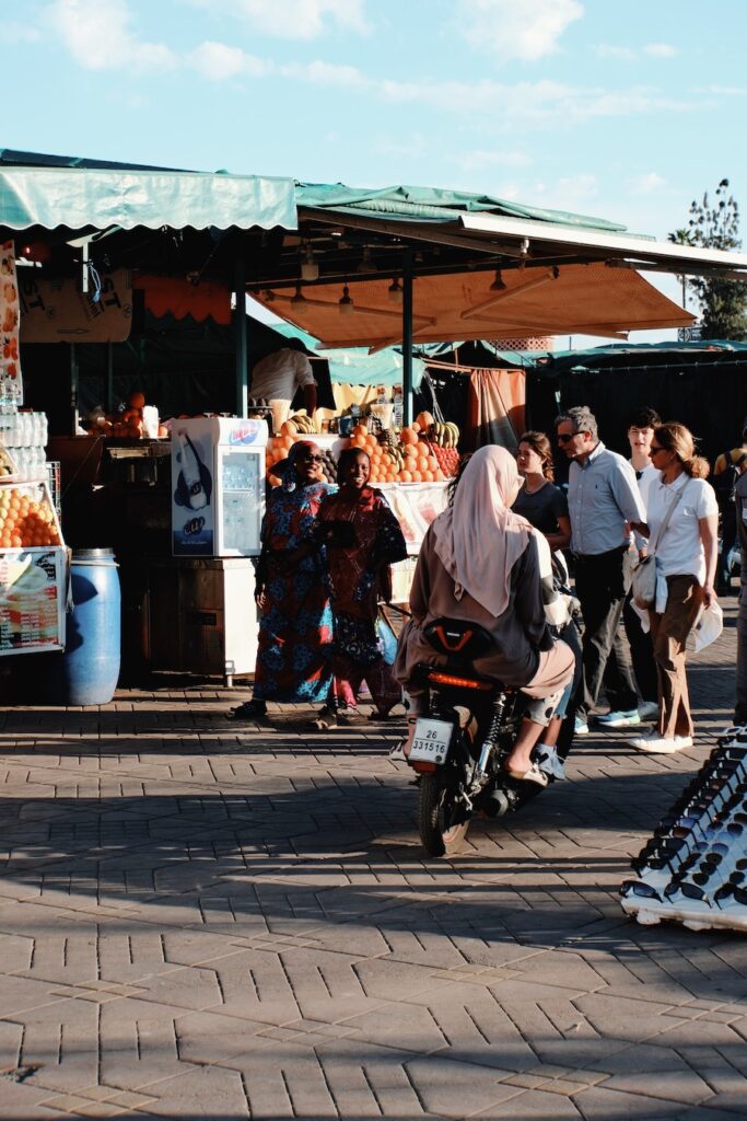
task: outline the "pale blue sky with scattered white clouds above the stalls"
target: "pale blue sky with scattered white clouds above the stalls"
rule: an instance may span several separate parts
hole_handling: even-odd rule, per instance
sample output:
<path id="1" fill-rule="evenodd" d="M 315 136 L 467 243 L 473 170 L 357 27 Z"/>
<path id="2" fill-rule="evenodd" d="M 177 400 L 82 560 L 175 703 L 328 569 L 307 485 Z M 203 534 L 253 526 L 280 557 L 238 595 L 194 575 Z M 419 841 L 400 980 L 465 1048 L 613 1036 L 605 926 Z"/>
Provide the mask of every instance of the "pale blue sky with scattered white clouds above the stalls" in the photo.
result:
<path id="1" fill-rule="evenodd" d="M 747 206 L 745 0 L 0 0 L 0 11 L 15 91 L 0 147 L 452 187 L 662 239 L 722 177 Z M 674 280 L 655 282 L 678 298 Z"/>

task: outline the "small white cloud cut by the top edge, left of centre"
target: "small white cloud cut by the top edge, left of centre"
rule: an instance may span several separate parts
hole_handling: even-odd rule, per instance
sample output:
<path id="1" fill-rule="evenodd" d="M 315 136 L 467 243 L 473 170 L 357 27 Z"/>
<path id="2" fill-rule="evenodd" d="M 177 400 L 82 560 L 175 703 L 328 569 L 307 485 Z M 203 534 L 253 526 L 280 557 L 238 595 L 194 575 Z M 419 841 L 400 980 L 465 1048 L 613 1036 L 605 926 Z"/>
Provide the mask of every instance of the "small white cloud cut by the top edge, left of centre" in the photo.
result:
<path id="1" fill-rule="evenodd" d="M 215 0 L 197 0 L 205 8 Z M 314 39 L 328 25 L 365 35 L 370 30 L 364 0 L 232 0 L 224 15 L 245 20 L 260 35 Z"/>

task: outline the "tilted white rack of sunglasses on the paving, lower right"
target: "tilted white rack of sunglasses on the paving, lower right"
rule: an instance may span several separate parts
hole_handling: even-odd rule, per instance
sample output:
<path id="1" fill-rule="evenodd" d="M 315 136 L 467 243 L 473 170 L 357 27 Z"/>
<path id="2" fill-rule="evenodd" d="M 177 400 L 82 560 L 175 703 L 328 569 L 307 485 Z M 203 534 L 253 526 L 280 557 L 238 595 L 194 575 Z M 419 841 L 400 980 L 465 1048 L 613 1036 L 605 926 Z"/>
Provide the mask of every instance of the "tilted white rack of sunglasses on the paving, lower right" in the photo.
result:
<path id="1" fill-rule="evenodd" d="M 692 930 L 747 930 L 747 724 L 729 728 L 632 861 L 623 910 Z"/>

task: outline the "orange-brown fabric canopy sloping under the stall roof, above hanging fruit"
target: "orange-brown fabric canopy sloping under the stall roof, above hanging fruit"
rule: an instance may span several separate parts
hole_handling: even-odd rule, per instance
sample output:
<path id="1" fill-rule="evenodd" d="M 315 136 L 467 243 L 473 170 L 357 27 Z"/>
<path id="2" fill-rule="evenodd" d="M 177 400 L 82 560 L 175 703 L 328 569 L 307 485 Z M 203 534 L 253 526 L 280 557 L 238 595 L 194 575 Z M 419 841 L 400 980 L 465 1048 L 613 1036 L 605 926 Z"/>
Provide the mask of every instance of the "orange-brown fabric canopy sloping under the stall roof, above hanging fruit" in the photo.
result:
<path id="1" fill-rule="evenodd" d="M 413 278 L 413 342 L 587 334 L 625 337 L 628 331 L 687 327 L 693 316 L 632 269 L 601 262 L 560 268 L 464 271 Z M 291 293 L 254 294 L 283 319 L 326 346 L 386 346 L 402 341 L 402 307 L 390 280 L 352 280 Z M 292 300 L 292 303 L 291 303 Z M 346 307 L 347 314 L 343 314 Z"/>

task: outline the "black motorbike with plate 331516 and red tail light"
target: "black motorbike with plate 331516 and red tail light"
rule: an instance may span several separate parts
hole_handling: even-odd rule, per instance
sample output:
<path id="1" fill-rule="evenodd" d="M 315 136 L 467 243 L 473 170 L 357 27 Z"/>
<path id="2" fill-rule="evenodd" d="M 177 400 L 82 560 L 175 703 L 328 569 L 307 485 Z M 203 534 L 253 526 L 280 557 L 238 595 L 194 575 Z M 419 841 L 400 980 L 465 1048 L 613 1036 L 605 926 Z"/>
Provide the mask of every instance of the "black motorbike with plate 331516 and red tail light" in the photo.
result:
<path id="1" fill-rule="evenodd" d="M 489 632 L 477 623 L 437 619 L 423 633 L 446 665 L 418 667 L 429 707 L 417 719 L 407 762 L 418 775 L 420 840 L 429 856 L 442 856 L 459 849 L 476 813 L 501 817 L 543 787 L 503 769 L 526 698 L 471 668 L 492 645 Z"/>

